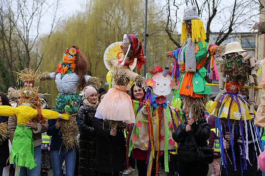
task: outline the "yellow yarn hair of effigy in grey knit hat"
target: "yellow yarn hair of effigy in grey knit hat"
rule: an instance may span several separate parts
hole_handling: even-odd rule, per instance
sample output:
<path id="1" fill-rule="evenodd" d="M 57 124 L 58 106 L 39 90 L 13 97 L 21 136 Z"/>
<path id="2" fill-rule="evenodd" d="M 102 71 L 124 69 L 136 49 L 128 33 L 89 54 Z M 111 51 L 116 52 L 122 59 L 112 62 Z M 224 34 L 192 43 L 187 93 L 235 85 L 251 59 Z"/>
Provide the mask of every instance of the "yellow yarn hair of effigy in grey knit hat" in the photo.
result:
<path id="1" fill-rule="evenodd" d="M 182 22 L 182 30 L 181 30 L 181 42 L 185 43 L 187 39 L 187 30 L 185 21 Z M 203 22 L 198 19 L 191 20 L 191 41 L 192 42 L 203 42 L 203 46 L 205 47 L 204 41 L 206 40 L 205 29 L 203 26 Z"/>

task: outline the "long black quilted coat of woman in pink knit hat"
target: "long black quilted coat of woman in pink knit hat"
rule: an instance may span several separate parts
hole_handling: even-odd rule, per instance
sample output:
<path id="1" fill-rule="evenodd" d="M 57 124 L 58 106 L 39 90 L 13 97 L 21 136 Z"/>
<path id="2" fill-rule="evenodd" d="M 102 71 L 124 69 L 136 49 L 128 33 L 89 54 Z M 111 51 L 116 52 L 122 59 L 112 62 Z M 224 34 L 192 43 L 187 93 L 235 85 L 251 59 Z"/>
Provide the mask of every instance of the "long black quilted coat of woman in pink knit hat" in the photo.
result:
<path id="1" fill-rule="evenodd" d="M 97 107 L 86 104 L 79 109 L 81 125 L 79 141 L 79 176 L 96 176 L 96 135 L 92 125 Z"/>

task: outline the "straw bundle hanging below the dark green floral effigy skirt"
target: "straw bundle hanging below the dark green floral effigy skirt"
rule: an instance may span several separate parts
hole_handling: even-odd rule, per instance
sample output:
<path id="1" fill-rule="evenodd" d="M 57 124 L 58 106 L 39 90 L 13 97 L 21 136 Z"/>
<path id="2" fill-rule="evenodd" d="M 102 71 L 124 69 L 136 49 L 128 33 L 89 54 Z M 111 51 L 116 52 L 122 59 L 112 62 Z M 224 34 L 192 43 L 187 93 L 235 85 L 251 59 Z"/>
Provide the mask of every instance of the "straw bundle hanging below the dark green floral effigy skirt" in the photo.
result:
<path id="1" fill-rule="evenodd" d="M 79 133 L 78 124 L 75 114 L 70 115 L 69 120 L 61 119 L 61 132 L 63 134 L 62 139 L 65 145 L 65 150 L 75 149 L 75 146 L 79 146 L 77 141 L 77 134 Z"/>

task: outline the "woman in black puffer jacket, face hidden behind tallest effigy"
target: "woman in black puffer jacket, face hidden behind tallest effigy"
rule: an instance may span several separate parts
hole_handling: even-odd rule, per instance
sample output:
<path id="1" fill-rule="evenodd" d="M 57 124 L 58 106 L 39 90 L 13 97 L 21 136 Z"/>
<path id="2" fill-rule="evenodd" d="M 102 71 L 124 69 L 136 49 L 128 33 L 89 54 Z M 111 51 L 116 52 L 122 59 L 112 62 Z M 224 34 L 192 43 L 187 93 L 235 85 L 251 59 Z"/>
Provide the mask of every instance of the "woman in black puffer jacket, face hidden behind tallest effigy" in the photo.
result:
<path id="1" fill-rule="evenodd" d="M 197 121 L 189 117 L 186 111 L 185 122 L 181 123 L 176 132 L 173 132 L 173 139 L 180 143 L 178 148 L 178 172 L 180 176 L 207 176 L 209 164 L 197 160 L 196 145 L 207 146 L 210 137 L 210 125 L 206 122 L 204 115 Z M 192 115 L 195 116 L 195 115 Z M 196 141 L 196 145 L 194 142 Z"/>

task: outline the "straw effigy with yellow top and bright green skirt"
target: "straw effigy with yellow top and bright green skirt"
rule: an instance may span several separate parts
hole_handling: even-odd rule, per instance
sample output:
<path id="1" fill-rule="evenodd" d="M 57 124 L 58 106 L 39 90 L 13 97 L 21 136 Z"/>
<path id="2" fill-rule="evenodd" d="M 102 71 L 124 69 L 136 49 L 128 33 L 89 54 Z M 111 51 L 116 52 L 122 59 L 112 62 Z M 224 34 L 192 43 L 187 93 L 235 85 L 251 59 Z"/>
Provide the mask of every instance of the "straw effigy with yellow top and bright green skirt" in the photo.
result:
<path id="1" fill-rule="evenodd" d="M 10 162 L 16 163 L 16 173 L 19 172 L 20 166 L 32 169 L 36 166 L 33 152 L 32 130 L 25 124 L 27 122 L 45 122 L 44 119 L 69 119 L 69 115 L 60 114 L 53 110 L 41 110 L 42 101 L 39 97 L 38 87 L 34 84 L 43 80 L 45 73 L 37 73 L 31 69 L 22 70 L 18 73 L 19 79 L 24 82 L 24 87 L 19 90 L 21 100 L 17 108 L 10 106 L 0 106 L 0 116 L 17 117 L 17 127 L 13 138 Z"/>

